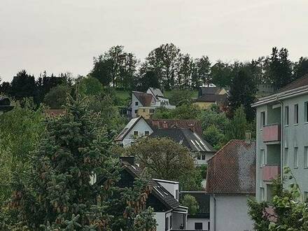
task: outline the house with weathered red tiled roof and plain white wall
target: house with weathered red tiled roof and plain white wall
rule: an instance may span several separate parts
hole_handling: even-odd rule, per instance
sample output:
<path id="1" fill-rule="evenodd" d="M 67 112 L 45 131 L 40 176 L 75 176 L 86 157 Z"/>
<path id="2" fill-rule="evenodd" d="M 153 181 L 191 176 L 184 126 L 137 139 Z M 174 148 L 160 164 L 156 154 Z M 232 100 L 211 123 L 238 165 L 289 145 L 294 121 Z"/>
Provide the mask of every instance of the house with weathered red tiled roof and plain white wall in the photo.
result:
<path id="1" fill-rule="evenodd" d="M 231 140 L 208 160 L 211 230 L 253 230 L 247 199 L 255 196 L 255 156 L 255 141 Z"/>

